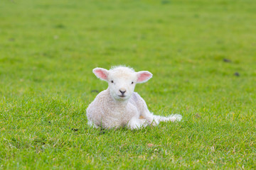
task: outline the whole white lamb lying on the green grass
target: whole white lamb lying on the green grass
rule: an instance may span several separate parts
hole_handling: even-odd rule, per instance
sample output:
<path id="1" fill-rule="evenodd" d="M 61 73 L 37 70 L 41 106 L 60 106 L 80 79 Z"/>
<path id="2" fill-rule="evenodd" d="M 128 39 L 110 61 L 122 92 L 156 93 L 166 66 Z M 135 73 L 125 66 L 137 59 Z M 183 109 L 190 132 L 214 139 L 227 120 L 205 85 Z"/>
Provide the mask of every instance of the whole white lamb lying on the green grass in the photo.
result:
<path id="1" fill-rule="evenodd" d="M 158 125 L 159 122 L 180 121 L 181 115 L 163 117 L 149 112 L 144 99 L 134 92 L 136 84 L 151 79 L 152 74 L 147 71 L 135 72 L 124 66 L 112 69 L 95 68 L 92 72 L 96 77 L 107 81 L 108 88 L 100 92 L 88 106 L 88 125 L 94 128 L 139 129 L 146 125 Z"/>

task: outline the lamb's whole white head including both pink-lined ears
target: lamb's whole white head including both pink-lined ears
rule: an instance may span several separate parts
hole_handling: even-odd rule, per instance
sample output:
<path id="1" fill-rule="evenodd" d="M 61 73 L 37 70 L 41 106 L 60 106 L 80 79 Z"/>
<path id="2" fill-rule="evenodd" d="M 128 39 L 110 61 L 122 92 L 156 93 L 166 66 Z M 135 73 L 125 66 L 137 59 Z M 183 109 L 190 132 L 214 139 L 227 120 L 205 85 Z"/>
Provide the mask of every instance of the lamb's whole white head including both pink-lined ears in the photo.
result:
<path id="1" fill-rule="evenodd" d="M 152 77 L 150 72 L 135 72 L 134 69 L 122 66 L 112 67 L 110 70 L 95 68 L 92 72 L 108 82 L 110 95 L 117 101 L 129 99 L 137 83 L 144 83 Z"/>

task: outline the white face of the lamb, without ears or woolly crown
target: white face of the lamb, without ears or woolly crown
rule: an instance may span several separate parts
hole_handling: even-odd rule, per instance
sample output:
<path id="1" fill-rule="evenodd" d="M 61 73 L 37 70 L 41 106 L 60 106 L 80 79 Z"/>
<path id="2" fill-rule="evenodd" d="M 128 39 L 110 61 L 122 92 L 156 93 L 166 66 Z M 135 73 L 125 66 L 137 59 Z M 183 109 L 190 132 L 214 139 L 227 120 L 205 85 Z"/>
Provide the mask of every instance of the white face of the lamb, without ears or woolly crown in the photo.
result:
<path id="1" fill-rule="evenodd" d="M 136 73 L 110 72 L 108 77 L 110 95 L 117 101 L 125 101 L 132 96 L 136 82 Z"/>

